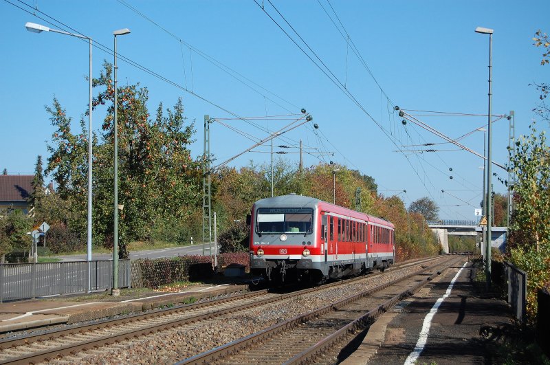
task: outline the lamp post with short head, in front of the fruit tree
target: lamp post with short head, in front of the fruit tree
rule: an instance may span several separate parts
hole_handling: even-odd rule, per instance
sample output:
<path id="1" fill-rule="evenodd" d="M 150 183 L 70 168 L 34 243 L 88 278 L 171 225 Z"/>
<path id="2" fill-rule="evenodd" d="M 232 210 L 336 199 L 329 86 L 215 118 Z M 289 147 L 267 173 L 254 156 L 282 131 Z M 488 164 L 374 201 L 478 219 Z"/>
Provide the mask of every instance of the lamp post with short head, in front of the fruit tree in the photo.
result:
<path id="1" fill-rule="evenodd" d="M 117 124 L 117 109 L 118 109 L 118 100 L 117 100 L 117 80 L 116 80 L 116 71 L 118 69 L 116 65 L 116 36 L 123 36 L 124 34 L 129 34 L 130 30 L 128 28 L 115 30 L 113 36 L 115 37 L 115 126 L 113 129 L 114 133 L 114 144 L 115 144 L 115 199 L 114 199 L 114 223 L 113 223 L 113 290 L 111 291 L 112 296 L 120 296 L 120 289 L 118 289 L 118 124 Z"/>

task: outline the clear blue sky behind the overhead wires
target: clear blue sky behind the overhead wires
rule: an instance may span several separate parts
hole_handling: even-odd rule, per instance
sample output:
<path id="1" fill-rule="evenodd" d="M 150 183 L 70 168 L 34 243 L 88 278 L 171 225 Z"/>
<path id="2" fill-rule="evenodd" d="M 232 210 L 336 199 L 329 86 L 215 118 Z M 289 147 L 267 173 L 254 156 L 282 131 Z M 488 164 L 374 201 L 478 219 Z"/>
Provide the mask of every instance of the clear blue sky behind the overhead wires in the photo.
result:
<path id="1" fill-rule="evenodd" d="M 308 151 L 334 152 L 334 156 L 305 155 L 305 166 L 332 160 L 358 169 L 374 177 L 386 196 L 406 190 L 399 194 L 406 204 L 431 197 L 445 219 L 475 218 L 474 208 L 481 201 L 483 170 L 479 166 L 483 160 L 458 151 L 456 146 L 439 144 L 444 142 L 440 137 L 410 122 L 403 126 L 393 105 L 409 110 L 453 139 L 486 125 L 487 117 L 482 115 L 451 117 L 410 111 L 487 113 L 489 39 L 474 32 L 477 26 L 494 29 L 493 113 L 504 115 L 514 110 L 516 136 L 528 133 L 527 126 L 535 116 L 531 109 L 538 102 L 538 93 L 529 84 L 547 81 L 550 71 L 548 66 L 540 66 L 542 49 L 531 41 L 539 28 L 550 31 L 550 27 L 544 29 L 548 25 L 545 12 L 538 11 L 544 9 L 544 1 L 272 0 L 336 83 L 345 85 L 364 110 L 265 14 L 273 16 L 316 59 L 270 1 L 256 0 L 263 3 L 265 12 L 253 0 L 133 1 L 134 10 L 122 0 L 9 1 L 0 1 L 0 168 L 7 168 L 8 173 L 32 173 L 36 156 L 47 158 L 46 146 L 54 129 L 44 107 L 54 96 L 74 119 L 76 131 L 87 109 L 87 42 L 51 32 L 33 34 L 25 30 L 28 21 L 80 32 L 110 49 L 113 30 L 128 27 L 131 34 L 118 38 L 118 52 L 179 87 L 120 58 L 119 85 L 140 82 L 147 87 L 148 107 L 153 113 L 159 102 L 169 107 L 183 98 L 186 116 L 195 120 L 197 129 L 193 155 L 202 152 L 203 115 L 232 116 L 214 104 L 246 117 L 299 113 L 305 108 L 319 125 L 318 131 L 308 123 L 287 133 L 288 139 L 276 140 L 275 145 L 296 145 L 303 140 L 305 146 L 317 148 Z M 42 12 L 35 12 L 42 19 L 32 14 L 33 7 Z M 353 53 L 351 42 L 375 79 Z M 240 76 L 222 71 L 201 52 L 264 89 L 254 86 L 259 92 L 253 91 L 243 85 Z M 112 62 L 112 54 L 94 47 L 94 76 L 99 75 L 104 60 Z M 248 80 L 245 83 L 253 85 Z M 94 112 L 94 130 L 103 118 L 104 110 Z M 276 131 L 289 121 L 256 122 Z M 257 140 L 267 136 L 242 120 L 227 123 Z M 548 124 L 539 122 L 538 129 L 548 129 Z M 500 164 L 507 162 L 508 131 L 505 118 L 494 122 L 493 159 Z M 212 124 L 211 133 L 211 152 L 217 162 L 254 144 L 218 123 Z M 472 133 L 460 142 L 483 153 L 483 135 Z M 397 152 L 425 149 L 412 146 L 424 143 L 437 143 L 428 147 L 437 152 Z M 268 150 L 269 146 L 256 148 Z M 298 161 L 298 154 L 283 156 Z M 246 153 L 230 166 L 248 165 L 250 160 L 263 164 L 269 159 L 269 153 Z M 504 170 L 496 166 L 493 170 L 507 178 Z M 497 192 L 505 192 L 496 179 L 493 184 Z"/>

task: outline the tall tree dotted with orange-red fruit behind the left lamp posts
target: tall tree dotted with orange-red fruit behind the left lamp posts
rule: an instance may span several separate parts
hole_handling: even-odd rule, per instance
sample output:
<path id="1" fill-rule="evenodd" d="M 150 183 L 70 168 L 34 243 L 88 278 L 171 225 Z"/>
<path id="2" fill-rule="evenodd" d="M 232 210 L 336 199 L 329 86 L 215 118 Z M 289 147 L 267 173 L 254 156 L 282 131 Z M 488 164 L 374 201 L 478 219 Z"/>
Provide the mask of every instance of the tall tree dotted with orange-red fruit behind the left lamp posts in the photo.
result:
<path id="1" fill-rule="evenodd" d="M 58 196 L 69 210 L 67 227 L 83 238 L 87 206 L 87 148 L 94 146 L 94 243 L 112 247 L 113 232 L 113 137 L 114 85 L 112 65 L 104 63 L 100 77 L 93 80 L 98 93 L 94 108 L 107 106 L 102 132 L 74 134 L 71 118 L 54 99 L 47 107 L 56 131 L 46 172 L 52 174 Z M 125 242 L 149 239 L 153 231 L 173 228 L 201 203 L 202 162 L 188 148 L 195 132 L 184 117 L 181 99 L 173 109 L 157 108 L 156 118 L 148 112 L 148 91 L 139 85 L 118 87 L 118 203 L 119 232 Z M 181 223 L 183 225 L 183 223 Z M 109 243 L 110 242 L 110 243 Z M 124 251 L 124 250 L 121 250 Z"/>

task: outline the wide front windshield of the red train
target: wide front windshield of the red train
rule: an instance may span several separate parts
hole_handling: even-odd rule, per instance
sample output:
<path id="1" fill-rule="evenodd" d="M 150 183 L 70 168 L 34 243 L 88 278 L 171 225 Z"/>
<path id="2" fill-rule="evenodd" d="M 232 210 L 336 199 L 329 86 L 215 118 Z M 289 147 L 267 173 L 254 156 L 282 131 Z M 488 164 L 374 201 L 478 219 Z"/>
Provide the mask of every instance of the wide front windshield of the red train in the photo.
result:
<path id="1" fill-rule="evenodd" d="M 259 208 L 257 234 L 311 233 L 314 210 L 311 208 Z"/>

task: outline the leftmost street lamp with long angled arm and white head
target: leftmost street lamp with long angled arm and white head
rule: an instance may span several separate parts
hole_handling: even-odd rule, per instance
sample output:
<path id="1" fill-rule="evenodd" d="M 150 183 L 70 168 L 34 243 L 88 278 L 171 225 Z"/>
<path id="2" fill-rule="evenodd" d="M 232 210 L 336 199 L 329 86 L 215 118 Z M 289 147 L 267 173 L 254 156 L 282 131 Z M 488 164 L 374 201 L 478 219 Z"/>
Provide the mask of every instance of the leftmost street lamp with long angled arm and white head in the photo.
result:
<path id="1" fill-rule="evenodd" d="M 91 38 L 87 36 L 83 36 L 80 34 L 73 34 L 69 32 L 65 32 L 64 30 L 56 30 L 52 29 L 50 27 L 46 27 L 45 25 L 40 25 L 36 23 L 26 23 L 25 27 L 29 32 L 33 33 L 41 33 L 41 32 L 54 32 L 54 33 L 60 33 L 65 34 L 67 36 L 76 36 L 76 38 L 83 38 L 87 39 L 89 43 L 89 100 L 88 100 L 88 239 L 87 239 L 87 255 L 86 259 L 87 261 L 91 261 L 91 160 L 92 160 L 92 153 L 91 153 L 91 142 L 92 142 L 92 135 L 91 135 Z"/>

